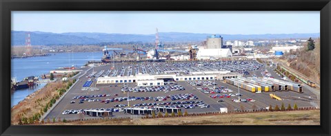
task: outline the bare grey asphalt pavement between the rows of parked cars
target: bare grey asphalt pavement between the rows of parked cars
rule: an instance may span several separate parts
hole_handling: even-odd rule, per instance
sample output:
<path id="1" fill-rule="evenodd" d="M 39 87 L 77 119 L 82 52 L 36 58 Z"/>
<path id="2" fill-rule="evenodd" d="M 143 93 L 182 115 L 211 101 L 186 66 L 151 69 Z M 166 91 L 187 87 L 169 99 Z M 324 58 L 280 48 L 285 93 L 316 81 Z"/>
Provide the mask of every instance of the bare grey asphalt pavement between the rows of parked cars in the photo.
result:
<path id="1" fill-rule="evenodd" d="M 122 64 L 119 63 L 117 65 L 118 69 L 121 69 Z M 146 64 L 145 64 L 146 65 Z M 152 63 L 150 64 L 152 66 Z M 160 66 L 161 67 L 161 66 Z M 147 67 L 146 67 L 147 68 Z M 88 68 L 85 68 L 88 69 Z M 66 120 L 74 120 L 74 119 L 79 119 L 79 115 L 77 114 L 67 114 L 67 115 L 62 115 L 62 112 L 65 110 L 79 110 L 79 109 L 109 109 L 109 108 L 114 108 L 114 105 L 116 104 L 128 104 L 127 101 L 123 102 L 110 102 L 109 104 L 105 104 L 104 102 L 86 102 L 84 101 L 83 104 L 79 104 L 79 100 L 75 100 L 76 102 L 74 104 L 70 104 L 70 101 L 72 101 L 72 98 L 76 95 L 100 95 L 100 94 L 110 94 L 112 96 L 110 97 L 102 97 L 102 98 L 96 98 L 96 99 L 101 99 L 101 100 L 106 100 L 107 98 L 118 98 L 118 97 L 126 97 L 128 94 L 122 93 L 121 92 L 121 87 L 123 84 L 118 84 L 118 87 L 110 87 L 110 84 L 95 84 L 95 78 L 92 78 L 94 81 L 91 85 L 91 87 L 97 87 L 99 88 L 99 91 L 81 91 L 81 88 L 83 87 L 83 84 L 88 80 L 86 76 L 90 74 L 93 70 L 94 71 L 101 71 L 101 70 L 107 70 L 110 69 L 110 65 L 106 66 L 101 66 L 101 67 L 94 67 L 94 69 L 90 69 L 86 73 L 86 75 L 82 76 L 81 79 L 77 82 L 77 84 L 72 87 L 72 89 L 63 97 L 63 99 L 57 104 L 57 106 L 50 111 L 48 115 L 46 115 L 46 120 L 47 118 L 52 119 L 53 117 L 58 118 L 61 117 L 66 118 Z M 257 76 L 262 76 L 261 75 L 261 70 L 264 70 L 265 67 L 262 67 L 261 69 L 257 71 L 250 71 L 250 73 L 255 73 Z M 276 73 L 272 71 L 272 68 L 268 68 L 268 71 L 274 76 L 274 78 L 280 78 L 277 76 Z M 132 72 L 134 72 L 134 69 L 132 69 Z M 81 73 L 83 74 L 84 71 Z M 126 76 L 127 73 L 125 73 Z M 79 76 L 76 76 L 78 78 Z M 227 87 L 228 89 L 231 89 L 233 92 L 231 93 L 238 93 L 238 88 L 234 87 L 231 84 L 227 84 L 225 82 L 222 82 L 221 80 L 216 80 L 217 86 L 218 87 Z M 185 88 L 184 91 L 169 91 L 169 93 L 164 93 L 163 91 L 161 92 L 139 92 L 139 93 L 129 93 L 130 96 L 135 96 L 137 97 L 157 97 L 157 96 L 167 96 L 167 95 L 175 95 L 175 94 L 183 94 L 183 93 L 193 93 L 196 95 L 200 100 L 205 102 L 205 104 L 209 104 L 210 108 L 199 108 L 196 107 L 195 109 L 184 109 L 181 108 L 182 111 L 188 111 L 188 113 L 202 113 L 202 112 L 213 112 L 213 111 L 219 111 L 219 108 L 221 107 L 227 107 L 229 111 L 233 111 L 235 109 L 238 110 L 252 110 L 253 105 L 256 106 L 256 109 L 263 109 L 269 106 L 270 104 L 272 107 L 278 105 L 279 107 L 281 106 L 282 103 L 284 103 L 284 106 L 287 107 L 288 104 L 290 104 L 292 107 L 294 104 L 297 104 L 299 107 L 305 107 L 305 106 L 317 106 L 319 105 L 319 100 L 317 99 L 317 96 L 314 95 L 311 91 L 307 91 L 305 87 L 303 87 L 303 92 L 304 93 L 297 93 L 294 91 L 275 91 L 275 92 L 262 92 L 262 93 L 252 93 L 250 91 L 246 91 L 244 89 L 239 89 L 240 93 L 243 95 L 240 98 L 241 99 L 248 99 L 252 98 L 253 100 L 256 100 L 255 102 L 232 102 L 232 99 L 238 99 L 238 97 L 231 97 L 231 98 L 210 98 L 209 96 L 211 95 L 210 93 L 202 93 L 201 91 L 197 90 L 196 87 L 193 87 L 192 85 L 188 84 L 187 82 L 177 82 L 177 84 L 183 86 Z M 135 87 L 135 83 L 130 83 L 129 87 Z M 214 86 L 209 86 L 209 87 L 214 87 Z M 230 92 L 229 92 L 230 93 Z M 226 94 L 229 94 L 226 93 Z M 279 96 L 283 100 L 278 101 L 270 98 L 270 93 L 274 93 L 275 95 Z M 114 94 L 118 94 L 117 96 L 114 96 Z M 225 94 L 225 93 L 219 93 L 219 94 Z M 217 102 L 218 100 L 225 100 L 225 102 Z M 161 102 L 177 102 L 178 100 L 172 101 L 170 99 L 166 101 L 161 101 Z M 191 100 L 179 100 L 179 101 L 191 101 Z M 130 101 L 130 106 L 133 104 L 140 104 L 140 103 L 153 103 L 154 100 L 135 100 L 135 101 Z M 157 102 L 160 103 L 160 102 Z M 123 112 L 119 113 L 113 113 L 114 117 L 132 117 L 132 115 L 126 115 Z M 86 116 L 85 116 L 86 117 Z M 137 117 L 137 116 L 134 116 Z"/>

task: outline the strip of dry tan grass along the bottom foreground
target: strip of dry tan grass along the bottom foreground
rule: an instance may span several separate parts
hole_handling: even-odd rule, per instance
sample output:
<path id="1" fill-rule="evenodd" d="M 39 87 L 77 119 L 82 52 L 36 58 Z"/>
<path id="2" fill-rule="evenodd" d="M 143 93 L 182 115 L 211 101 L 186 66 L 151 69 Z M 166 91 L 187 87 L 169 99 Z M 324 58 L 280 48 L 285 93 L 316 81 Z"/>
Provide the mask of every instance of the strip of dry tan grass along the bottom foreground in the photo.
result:
<path id="1" fill-rule="evenodd" d="M 148 119 L 106 119 L 55 122 L 46 125 L 319 125 L 320 110 L 236 113 Z"/>

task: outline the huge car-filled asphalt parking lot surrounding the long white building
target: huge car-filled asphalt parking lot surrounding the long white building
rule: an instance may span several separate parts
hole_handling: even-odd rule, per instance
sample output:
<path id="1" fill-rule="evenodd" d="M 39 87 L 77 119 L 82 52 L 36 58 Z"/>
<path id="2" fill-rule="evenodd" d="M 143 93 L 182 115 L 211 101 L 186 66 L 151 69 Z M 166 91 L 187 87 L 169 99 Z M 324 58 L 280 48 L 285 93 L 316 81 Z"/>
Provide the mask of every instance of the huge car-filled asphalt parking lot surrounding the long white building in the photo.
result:
<path id="1" fill-rule="evenodd" d="M 231 84 L 227 84 L 221 80 L 172 82 L 171 84 L 166 84 L 163 87 L 137 87 L 136 83 L 128 83 L 128 88 L 123 88 L 125 86 L 123 83 L 95 84 L 96 78 L 92 76 L 88 78 L 91 73 L 94 73 L 93 75 L 97 76 L 106 76 L 107 73 L 109 73 L 108 76 L 128 76 L 130 74 L 141 72 L 157 74 L 167 70 L 183 70 L 187 72 L 199 71 L 199 69 L 209 69 L 210 71 L 227 69 L 227 67 L 220 67 L 221 65 L 229 65 L 230 69 L 233 69 L 234 66 L 238 65 L 236 63 L 203 63 L 203 65 L 199 65 L 199 63 L 181 64 L 182 65 L 179 66 L 178 63 L 119 63 L 117 64 L 118 69 L 116 71 L 110 70 L 110 65 L 94 67 L 94 69 L 90 69 L 86 75 L 81 77 L 77 84 L 72 87 L 70 92 L 68 92 L 59 102 L 59 104 L 57 104 L 57 106 L 55 106 L 54 109 L 50 111 L 50 113 L 46 116 L 46 119 L 52 119 L 53 117 L 66 118 L 66 120 L 79 119 L 78 114 L 70 114 L 70 111 L 63 111 L 81 109 L 112 110 L 114 111 L 114 117 L 130 117 L 130 115 L 126 115 L 125 113 L 121 112 L 123 111 L 123 107 L 128 106 L 128 99 L 130 107 L 170 106 L 180 108 L 181 111 L 188 111 L 188 113 L 214 112 L 219 111 L 221 107 L 227 107 L 229 111 L 265 109 L 270 104 L 273 107 L 276 104 L 281 106 L 282 102 L 286 107 L 288 104 L 291 104 L 292 107 L 294 104 L 297 104 L 299 107 L 319 105 L 319 100 L 317 100 L 316 96 L 313 95 L 313 93 L 310 91 L 305 90 L 305 88 L 303 88 L 304 93 L 296 93 L 294 91 L 252 93 L 244 89 L 239 89 L 239 95 L 237 87 L 234 87 Z M 256 75 L 259 76 L 259 74 L 261 74 L 261 70 L 264 68 L 261 65 L 256 66 L 263 69 L 250 67 L 251 65 L 255 64 L 257 63 L 250 63 L 250 61 L 249 63 L 243 63 L 242 65 L 247 65 L 248 67 L 243 67 L 244 70 L 238 70 L 250 71 L 251 74 L 256 73 Z M 211 67 L 211 65 L 214 66 Z M 190 67 L 187 68 L 188 66 Z M 231 68 L 231 66 L 233 67 Z M 130 69 L 132 69 L 132 71 Z M 93 70 L 94 72 L 92 72 Z M 272 70 L 269 70 L 269 72 L 276 78 L 277 75 L 272 73 Z M 88 81 L 89 79 L 92 81 L 92 83 Z M 88 82 L 90 87 L 97 87 L 97 89 L 94 89 L 94 91 L 90 89 L 82 91 L 82 87 L 86 85 L 86 82 Z M 129 90 L 129 93 L 126 93 L 126 90 Z M 209 93 L 206 93 L 206 91 L 209 91 Z M 274 93 L 283 100 L 278 101 L 271 99 L 269 95 L 270 93 Z M 215 97 L 215 95 L 217 95 L 217 97 Z M 79 96 L 86 97 L 79 98 Z M 223 98 L 220 96 L 223 96 Z M 241 100 L 247 101 L 236 102 L 239 97 Z M 81 102 L 81 99 L 84 100 Z"/>

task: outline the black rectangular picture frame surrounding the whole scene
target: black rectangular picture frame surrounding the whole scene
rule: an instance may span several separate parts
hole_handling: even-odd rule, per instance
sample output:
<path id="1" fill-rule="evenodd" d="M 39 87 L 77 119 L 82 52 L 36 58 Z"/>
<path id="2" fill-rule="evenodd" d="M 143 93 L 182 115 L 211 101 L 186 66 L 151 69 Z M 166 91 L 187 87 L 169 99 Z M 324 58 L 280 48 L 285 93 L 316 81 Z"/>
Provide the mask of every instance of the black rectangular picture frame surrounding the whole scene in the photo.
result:
<path id="1" fill-rule="evenodd" d="M 277 10 L 321 12 L 320 126 L 10 126 L 11 11 L 25 10 Z M 1 135 L 330 135 L 330 0 L 1 0 Z M 304 19 L 303 19 L 304 21 Z M 309 29 L 309 26 L 307 26 Z"/>

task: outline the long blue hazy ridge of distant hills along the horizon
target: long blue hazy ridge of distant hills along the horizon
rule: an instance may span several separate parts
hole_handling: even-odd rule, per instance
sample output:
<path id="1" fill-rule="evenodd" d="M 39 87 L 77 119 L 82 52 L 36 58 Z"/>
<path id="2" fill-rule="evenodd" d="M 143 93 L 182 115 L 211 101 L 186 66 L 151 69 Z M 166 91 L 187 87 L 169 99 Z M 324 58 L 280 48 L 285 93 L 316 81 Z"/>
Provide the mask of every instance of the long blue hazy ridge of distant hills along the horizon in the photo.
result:
<path id="1" fill-rule="evenodd" d="M 107 34 L 91 32 L 30 32 L 31 45 L 82 45 L 97 43 L 128 43 L 143 42 L 153 43 L 154 34 Z M 162 42 L 194 42 L 205 41 L 207 36 L 212 34 L 194 34 L 185 32 L 160 32 L 159 37 Z M 220 34 L 224 41 L 228 40 L 268 40 L 271 38 L 317 38 L 319 33 L 312 34 Z M 12 45 L 24 45 L 26 32 L 12 31 Z"/>

